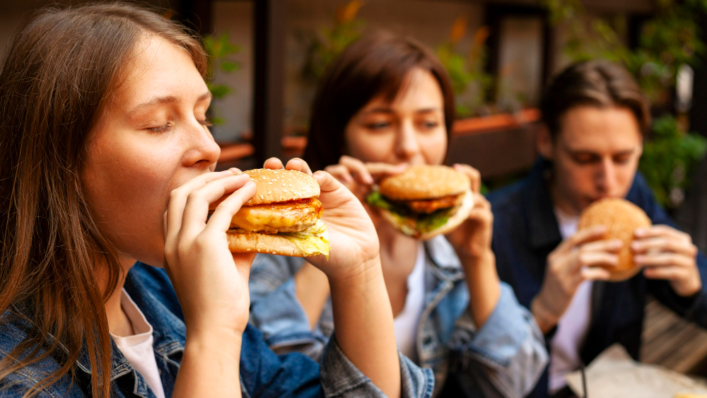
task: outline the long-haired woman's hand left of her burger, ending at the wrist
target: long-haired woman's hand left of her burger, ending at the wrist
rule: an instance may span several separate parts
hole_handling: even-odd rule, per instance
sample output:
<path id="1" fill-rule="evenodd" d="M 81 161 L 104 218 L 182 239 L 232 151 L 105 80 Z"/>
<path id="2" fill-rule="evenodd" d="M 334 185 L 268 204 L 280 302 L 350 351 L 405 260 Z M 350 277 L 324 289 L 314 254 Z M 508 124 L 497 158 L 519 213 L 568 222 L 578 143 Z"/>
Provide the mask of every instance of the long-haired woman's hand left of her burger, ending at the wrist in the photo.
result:
<path id="1" fill-rule="evenodd" d="M 248 276 L 255 254 L 232 254 L 226 230 L 240 206 L 255 194 L 255 183 L 235 172 L 240 170 L 200 175 L 170 194 L 165 270 L 182 305 L 188 334 L 218 328 L 241 333 L 248 322 Z M 230 192 L 209 218 L 209 204 Z"/>

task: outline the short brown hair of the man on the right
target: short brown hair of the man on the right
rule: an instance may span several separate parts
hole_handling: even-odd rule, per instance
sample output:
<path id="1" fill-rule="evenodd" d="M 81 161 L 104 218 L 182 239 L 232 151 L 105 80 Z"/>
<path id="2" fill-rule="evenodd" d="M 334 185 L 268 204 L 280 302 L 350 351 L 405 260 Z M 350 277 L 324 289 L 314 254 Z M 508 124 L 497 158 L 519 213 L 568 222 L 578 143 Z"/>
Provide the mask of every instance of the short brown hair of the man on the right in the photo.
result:
<path id="1" fill-rule="evenodd" d="M 561 131 L 563 115 L 581 105 L 626 107 L 636 116 L 642 134 L 650 127 L 648 101 L 641 88 L 626 68 L 613 62 L 573 64 L 547 86 L 540 101 L 540 112 L 553 139 Z"/>

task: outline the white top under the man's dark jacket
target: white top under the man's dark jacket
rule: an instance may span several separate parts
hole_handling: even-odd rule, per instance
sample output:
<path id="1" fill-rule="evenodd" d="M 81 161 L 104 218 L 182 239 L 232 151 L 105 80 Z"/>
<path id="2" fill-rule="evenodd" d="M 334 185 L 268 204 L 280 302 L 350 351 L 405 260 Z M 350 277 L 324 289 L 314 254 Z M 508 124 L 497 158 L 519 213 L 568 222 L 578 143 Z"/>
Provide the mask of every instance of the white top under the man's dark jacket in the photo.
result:
<path id="1" fill-rule="evenodd" d="M 562 239 L 577 233 L 579 217 L 570 217 L 555 209 Z M 579 368 L 580 348 L 589 332 L 592 312 L 592 281 L 583 281 L 577 288 L 569 307 L 557 322 L 557 330 L 550 344 L 550 394 L 567 385 L 565 375 Z"/>

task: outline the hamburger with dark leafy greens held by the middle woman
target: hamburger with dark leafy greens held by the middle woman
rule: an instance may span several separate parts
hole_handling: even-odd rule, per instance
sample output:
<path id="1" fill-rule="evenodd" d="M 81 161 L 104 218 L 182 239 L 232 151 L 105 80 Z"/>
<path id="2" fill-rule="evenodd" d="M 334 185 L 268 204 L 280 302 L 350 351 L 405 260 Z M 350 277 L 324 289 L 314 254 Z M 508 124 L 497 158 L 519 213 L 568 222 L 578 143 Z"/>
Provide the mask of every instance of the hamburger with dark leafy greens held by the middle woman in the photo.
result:
<path id="1" fill-rule="evenodd" d="M 469 178 L 443 165 L 419 165 L 374 187 L 366 201 L 402 233 L 427 240 L 466 220 L 474 206 Z"/>

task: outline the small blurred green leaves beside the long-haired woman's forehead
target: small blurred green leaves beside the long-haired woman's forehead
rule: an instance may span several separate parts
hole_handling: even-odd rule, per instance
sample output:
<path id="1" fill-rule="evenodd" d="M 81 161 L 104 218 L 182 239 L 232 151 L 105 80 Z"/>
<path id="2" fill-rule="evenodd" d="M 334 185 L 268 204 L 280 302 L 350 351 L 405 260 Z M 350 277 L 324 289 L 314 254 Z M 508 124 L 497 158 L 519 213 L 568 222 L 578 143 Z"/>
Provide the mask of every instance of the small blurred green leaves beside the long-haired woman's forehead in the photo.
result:
<path id="1" fill-rule="evenodd" d="M 211 94 L 214 95 L 214 98 L 221 99 L 232 93 L 233 88 L 226 84 L 214 84 L 216 70 L 227 74 L 240 70 L 240 63 L 233 59 L 233 54 L 238 54 L 240 47 L 230 42 L 227 33 L 223 33 L 223 35 L 218 37 L 204 37 L 204 49 L 206 49 L 206 54 L 209 55 L 206 85 L 209 87 Z M 222 117 L 211 117 L 211 123 L 213 124 L 223 124 L 225 122 L 226 120 Z"/>

